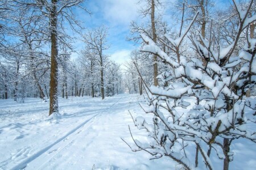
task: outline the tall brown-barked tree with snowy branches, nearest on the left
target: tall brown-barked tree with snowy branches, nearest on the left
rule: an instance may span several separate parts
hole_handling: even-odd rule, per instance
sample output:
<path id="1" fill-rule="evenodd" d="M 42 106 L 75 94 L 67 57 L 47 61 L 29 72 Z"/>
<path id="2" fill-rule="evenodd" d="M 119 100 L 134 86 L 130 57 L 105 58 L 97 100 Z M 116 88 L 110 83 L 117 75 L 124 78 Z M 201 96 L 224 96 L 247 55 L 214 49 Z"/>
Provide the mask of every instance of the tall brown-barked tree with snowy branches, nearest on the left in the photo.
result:
<path id="1" fill-rule="evenodd" d="M 65 33 L 64 22 L 71 25 L 72 29 L 75 26 L 80 26 L 79 22 L 75 19 L 72 12 L 73 7 L 80 7 L 84 0 L 31 0 L 27 1 L 10 1 L 13 7 L 18 9 L 27 8 L 30 12 L 28 20 L 37 19 L 36 23 L 46 25 L 48 23 L 47 31 L 43 32 L 47 35 L 47 40 L 51 44 L 51 74 L 50 74 L 50 92 L 49 92 L 49 115 L 54 112 L 59 112 L 58 99 L 57 99 L 57 84 L 58 84 L 58 43 L 63 43 L 72 48 L 68 41 L 67 33 Z M 76 29 L 75 29 L 76 30 Z M 40 29 L 36 31 L 41 32 Z M 61 35 L 61 36 L 59 36 Z M 59 42 L 58 42 L 59 41 Z"/>

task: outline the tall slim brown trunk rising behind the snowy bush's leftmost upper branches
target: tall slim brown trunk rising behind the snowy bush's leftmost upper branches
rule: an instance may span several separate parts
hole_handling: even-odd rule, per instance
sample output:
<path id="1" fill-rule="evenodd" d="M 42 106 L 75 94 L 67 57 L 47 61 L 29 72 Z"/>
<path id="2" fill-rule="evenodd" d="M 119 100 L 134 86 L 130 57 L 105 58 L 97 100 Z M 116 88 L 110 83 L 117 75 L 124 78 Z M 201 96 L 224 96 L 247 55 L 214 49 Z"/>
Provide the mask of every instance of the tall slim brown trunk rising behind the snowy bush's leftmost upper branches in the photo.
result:
<path id="1" fill-rule="evenodd" d="M 156 43 L 156 29 L 155 29 L 155 0 L 151 0 L 151 27 L 152 27 L 152 35 L 153 41 Z M 154 54 L 153 61 L 154 61 L 154 86 L 158 86 L 158 57 Z"/>

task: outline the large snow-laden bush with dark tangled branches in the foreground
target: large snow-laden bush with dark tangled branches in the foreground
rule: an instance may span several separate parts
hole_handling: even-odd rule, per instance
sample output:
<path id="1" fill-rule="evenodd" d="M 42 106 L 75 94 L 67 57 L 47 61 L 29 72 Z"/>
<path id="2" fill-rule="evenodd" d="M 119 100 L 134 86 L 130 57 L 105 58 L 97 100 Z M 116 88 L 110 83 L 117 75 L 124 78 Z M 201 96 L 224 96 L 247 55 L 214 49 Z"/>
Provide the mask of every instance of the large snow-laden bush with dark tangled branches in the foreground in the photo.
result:
<path id="1" fill-rule="evenodd" d="M 142 34 L 146 45 L 142 51 L 156 54 L 163 62 L 172 67 L 158 76 L 162 84 L 168 86 L 143 86 L 147 93 L 147 105 L 142 105 L 144 112 L 153 113 L 152 122 L 143 117 L 134 119 L 138 129 L 146 129 L 150 142 L 142 143 L 135 139 L 133 151 L 144 150 L 153 159 L 168 156 L 183 165 L 185 169 L 197 167 L 197 158 L 188 159 L 188 145 L 196 146 L 203 162 L 208 169 L 214 169 L 210 153 L 216 152 L 219 159 L 224 159 L 224 169 L 229 168 L 233 160 L 230 145 L 234 139 L 247 138 L 256 142 L 255 130 L 246 128 L 247 124 L 256 122 L 256 100 L 245 97 L 246 90 L 255 84 L 256 80 L 256 39 L 246 36 L 246 44 L 238 56 L 234 49 L 242 32 L 249 34 L 249 25 L 256 20 L 255 15 L 249 16 L 253 1 L 246 11 L 234 1 L 239 25 L 234 40 L 229 45 L 217 44 L 210 33 L 205 39 L 202 36 L 188 35 L 193 22 L 176 40 L 166 37 L 166 46 L 176 55 L 168 56 L 155 42 Z M 179 47 L 184 37 L 192 42 L 196 56 L 187 59 L 180 55 Z M 195 103 L 191 102 L 195 101 Z M 177 108 L 184 109 L 183 113 Z M 132 134 L 132 133 L 131 133 Z M 200 164 L 202 165 L 202 164 Z"/>

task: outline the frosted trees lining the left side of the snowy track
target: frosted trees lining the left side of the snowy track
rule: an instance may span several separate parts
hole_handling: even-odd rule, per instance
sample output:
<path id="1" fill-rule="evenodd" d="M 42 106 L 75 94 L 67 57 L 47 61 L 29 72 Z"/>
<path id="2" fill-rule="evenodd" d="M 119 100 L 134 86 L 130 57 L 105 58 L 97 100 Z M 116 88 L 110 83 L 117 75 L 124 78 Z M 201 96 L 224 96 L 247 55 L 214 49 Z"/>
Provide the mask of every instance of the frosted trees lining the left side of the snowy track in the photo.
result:
<path id="1" fill-rule="evenodd" d="M 89 13 L 84 1 L 1 1 L 0 99 L 51 98 L 56 105 L 57 94 L 104 99 L 124 91 L 120 65 L 105 54 L 108 28 L 82 31 L 76 8 Z M 84 40 L 75 59 L 67 29 Z"/>

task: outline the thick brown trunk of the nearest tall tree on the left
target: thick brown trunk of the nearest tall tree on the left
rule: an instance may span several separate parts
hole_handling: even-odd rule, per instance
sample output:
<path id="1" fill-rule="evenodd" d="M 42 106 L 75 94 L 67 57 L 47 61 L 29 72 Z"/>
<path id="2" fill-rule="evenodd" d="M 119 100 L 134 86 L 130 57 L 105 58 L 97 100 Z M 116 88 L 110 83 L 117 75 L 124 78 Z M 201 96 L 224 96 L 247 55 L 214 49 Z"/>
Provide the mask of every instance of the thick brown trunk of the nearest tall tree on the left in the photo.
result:
<path id="1" fill-rule="evenodd" d="M 51 80 L 50 80 L 50 104 L 49 115 L 59 112 L 58 105 L 58 63 L 57 63 L 57 0 L 52 0 L 51 6 Z"/>

